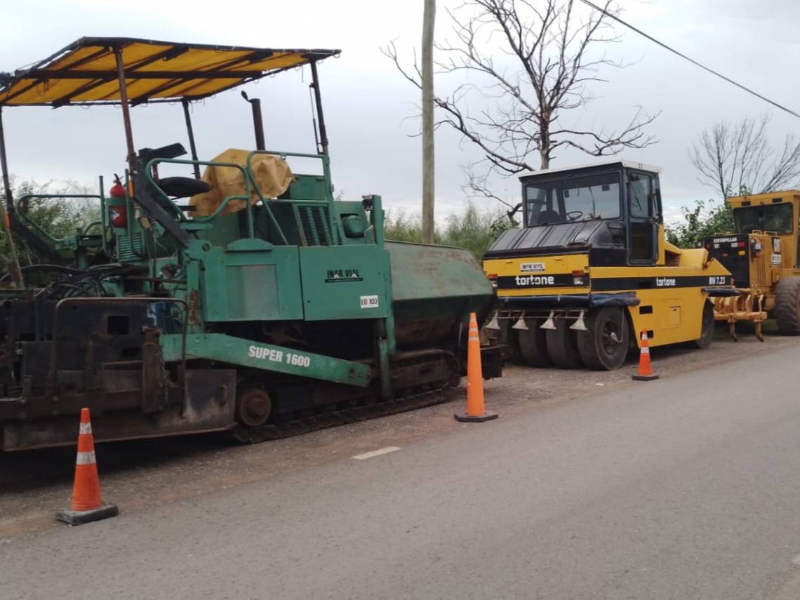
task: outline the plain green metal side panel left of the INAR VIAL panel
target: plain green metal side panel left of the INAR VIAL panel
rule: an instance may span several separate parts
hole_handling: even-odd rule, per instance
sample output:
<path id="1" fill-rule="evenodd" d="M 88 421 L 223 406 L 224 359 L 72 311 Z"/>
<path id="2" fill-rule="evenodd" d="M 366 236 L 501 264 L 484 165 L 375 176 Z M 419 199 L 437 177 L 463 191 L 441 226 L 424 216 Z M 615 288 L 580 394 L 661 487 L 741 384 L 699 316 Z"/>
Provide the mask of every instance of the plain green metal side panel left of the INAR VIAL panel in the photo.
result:
<path id="1" fill-rule="evenodd" d="M 260 242 L 266 246 L 266 242 Z M 237 242 L 238 243 L 238 242 Z M 202 254 L 202 315 L 206 322 L 303 318 L 297 246 L 270 250 L 212 247 Z"/>

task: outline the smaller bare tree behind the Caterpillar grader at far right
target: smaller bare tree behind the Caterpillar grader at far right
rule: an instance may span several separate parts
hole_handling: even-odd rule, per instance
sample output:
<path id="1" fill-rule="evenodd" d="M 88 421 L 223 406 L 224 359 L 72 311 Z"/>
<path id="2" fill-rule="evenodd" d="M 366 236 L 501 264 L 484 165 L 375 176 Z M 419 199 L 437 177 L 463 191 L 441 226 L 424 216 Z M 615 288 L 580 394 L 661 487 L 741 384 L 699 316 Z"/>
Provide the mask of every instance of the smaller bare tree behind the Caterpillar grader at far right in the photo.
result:
<path id="1" fill-rule="evenodd" d="M 770 145 L 767 115 L 740 122 L 720 121 L 702 132 L 689 156 L 698 179 L 722 198 L 764 194 L 800 183 L 800 140 L 786 134 L 783 145 Z"/>

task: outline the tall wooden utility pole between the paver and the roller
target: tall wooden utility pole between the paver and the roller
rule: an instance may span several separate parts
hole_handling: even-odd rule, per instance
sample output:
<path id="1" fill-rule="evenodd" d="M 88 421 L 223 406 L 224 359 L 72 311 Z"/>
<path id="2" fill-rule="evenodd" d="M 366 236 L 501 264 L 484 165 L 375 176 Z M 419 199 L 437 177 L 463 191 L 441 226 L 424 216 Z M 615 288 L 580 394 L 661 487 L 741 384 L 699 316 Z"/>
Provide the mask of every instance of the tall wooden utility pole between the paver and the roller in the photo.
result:
<path id="1" fill-rule="evenodd" d="M 436 0 L 422 15 L 422 242 L 434 243 L 434 21 Z"/>

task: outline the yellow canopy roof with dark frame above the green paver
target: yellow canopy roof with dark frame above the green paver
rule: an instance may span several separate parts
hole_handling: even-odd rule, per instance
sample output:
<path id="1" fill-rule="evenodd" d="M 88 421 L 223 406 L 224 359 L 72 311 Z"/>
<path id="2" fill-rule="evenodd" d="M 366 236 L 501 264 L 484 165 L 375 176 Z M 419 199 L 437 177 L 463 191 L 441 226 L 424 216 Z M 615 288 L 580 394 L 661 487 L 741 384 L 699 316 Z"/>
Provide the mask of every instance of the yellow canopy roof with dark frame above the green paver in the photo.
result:
<path id="1" fill-rule="evenodd" d="M 134 38 L 81 38 L 30 68 L 0 73 L 0 106 L 119 104 L 118 50 L 122 53 L 131 104 L 198 100 L 339 54 L 339 50 L 270 50 Z"/>

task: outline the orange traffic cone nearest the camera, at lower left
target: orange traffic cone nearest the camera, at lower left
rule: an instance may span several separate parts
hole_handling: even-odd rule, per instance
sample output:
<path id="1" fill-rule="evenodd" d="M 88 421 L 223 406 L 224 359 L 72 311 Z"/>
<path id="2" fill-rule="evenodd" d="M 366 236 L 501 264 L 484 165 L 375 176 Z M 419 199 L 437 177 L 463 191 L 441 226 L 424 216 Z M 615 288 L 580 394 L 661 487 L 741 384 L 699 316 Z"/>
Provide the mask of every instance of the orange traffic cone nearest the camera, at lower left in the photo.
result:
<path id="1" fill-rule="evenodd" d="M 69 525 L 82 525 L 102 518 L 116 517 L 119 510 L 113 504 L 103 504 L 100 499 L 98 465 L 94 459 L 94 436 L 89 420 L 89 409 L 81 409 L 81 428 L 78 431 L 78 459 L 75 462 L 75 482 L 72 487 L 71 510 L 59 510 L 58 521 Z"/>

